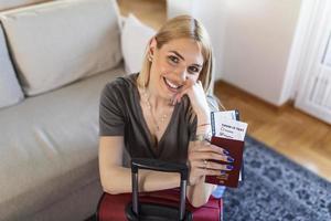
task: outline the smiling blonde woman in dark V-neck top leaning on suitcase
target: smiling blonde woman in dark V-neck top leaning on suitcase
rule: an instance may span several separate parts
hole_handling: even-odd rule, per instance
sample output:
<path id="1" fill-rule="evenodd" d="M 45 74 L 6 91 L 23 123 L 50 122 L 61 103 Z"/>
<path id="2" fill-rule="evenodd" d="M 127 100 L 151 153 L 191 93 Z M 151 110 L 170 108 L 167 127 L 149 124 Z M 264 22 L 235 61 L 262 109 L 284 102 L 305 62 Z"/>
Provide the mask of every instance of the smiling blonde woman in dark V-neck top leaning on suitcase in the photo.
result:
<path id="1" fill-rule="evenodd" d="M 202 140 L 211 131 L 212 49 L 205 29 L 189 15 L 168 21 L 150 40 L 141 72 L 108 83 L 100 98 L 99 170 L 108 193 L 131 191 L 130 157 L 188 162 L 188 199 L 207 202 L 213 185 L 233 161 Z M 215 102 L 214 102 L 215 104 Z M 214 105 L 216 106 L 216 105 Z M 179 187 L 180 176 L 139 170 L 139 191 Z"/>

